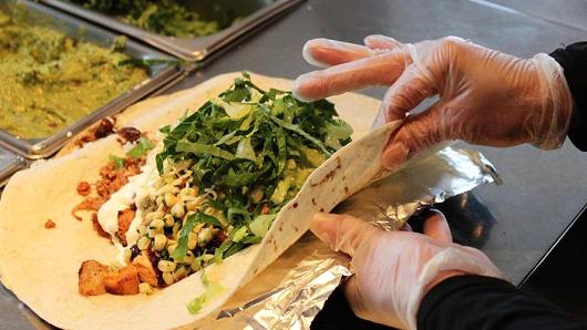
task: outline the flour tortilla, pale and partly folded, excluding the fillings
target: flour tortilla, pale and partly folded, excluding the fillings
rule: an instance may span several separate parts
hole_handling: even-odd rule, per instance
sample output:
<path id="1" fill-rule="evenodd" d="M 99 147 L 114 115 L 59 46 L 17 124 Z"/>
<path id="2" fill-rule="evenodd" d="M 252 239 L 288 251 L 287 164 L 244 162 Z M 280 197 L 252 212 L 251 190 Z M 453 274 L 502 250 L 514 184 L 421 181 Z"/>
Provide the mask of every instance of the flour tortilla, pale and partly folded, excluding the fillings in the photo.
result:
<path id="1" fill-rule="evenodd" d="M 133 106 L 119 124 L 155 132 L 176 122 L 187 110 L 228 89 L 239 73 L 216 76 L 194 89 Z M 251 74 L 261 87 L 289 90 L 291 81 Z M 357 141 L 369 132 L 379 101 L 359 94 L 331 99 L 341 117 L 354 130 Z M 69 154 L 17 173 L 0 200 L 1 280 L 17 297 L 48 322 L 68 329 L 169 329 L 188 327 L 220 307 L 255 275 L 265 269 L 309 228 L 318 212 L 365 186 L 381 173 L 380 152 L 398 123 L 391 123 L 340 149 L 316 169 L 298 196 L 277 216 L 265 239 L 205 269 L 210 282 L 224 290 L 190 314 L 186 305 L 205 291 L 200 272 L 156 291 L 152 296 L 78 292 L 78 269 L 82 261 L 115 260 L 117 250 L 100 237 L 89 220 L 78 221 L 71 209 L 82 198 L 81 181 L 94 182 L 111 154 L 122 154 L 115 136 L 86 144 Z M 56 224 L 45 229 L 48 219 Z"/>

